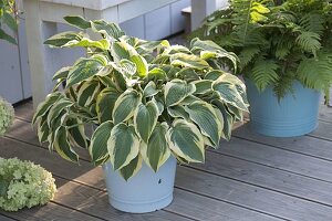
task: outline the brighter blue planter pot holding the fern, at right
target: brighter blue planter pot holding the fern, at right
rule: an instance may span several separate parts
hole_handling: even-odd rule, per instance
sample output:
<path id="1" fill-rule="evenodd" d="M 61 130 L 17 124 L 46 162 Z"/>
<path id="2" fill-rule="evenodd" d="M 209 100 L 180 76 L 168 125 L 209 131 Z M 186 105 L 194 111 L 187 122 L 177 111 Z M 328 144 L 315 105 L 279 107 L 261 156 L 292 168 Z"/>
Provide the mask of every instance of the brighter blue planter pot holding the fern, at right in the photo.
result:
<path id="1" fill-rule="evenodd" d="M 294 137 L 317 128 L 320 92 L 294 82 L 294 94 L 288 94 L 278 103 L 272 87 L 259 93 L 250 80 L 246 80 L 246 85 L 250 104 L 250 127 L 255 131 L 272 137 Z"/>

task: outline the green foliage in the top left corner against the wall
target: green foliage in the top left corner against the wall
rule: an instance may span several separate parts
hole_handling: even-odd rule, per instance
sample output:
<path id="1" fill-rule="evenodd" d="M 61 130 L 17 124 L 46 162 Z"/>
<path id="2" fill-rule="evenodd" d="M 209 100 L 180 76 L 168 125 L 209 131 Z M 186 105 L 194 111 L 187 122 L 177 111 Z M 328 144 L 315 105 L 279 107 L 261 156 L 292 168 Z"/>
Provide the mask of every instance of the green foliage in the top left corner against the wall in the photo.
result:
<path id="1" fill-rule="evenodd" d="M 0 0 L 0 39 L 17 44 L 17 40 L 7 30 L 18 32 L 17 8 L 14 0 Z"/>

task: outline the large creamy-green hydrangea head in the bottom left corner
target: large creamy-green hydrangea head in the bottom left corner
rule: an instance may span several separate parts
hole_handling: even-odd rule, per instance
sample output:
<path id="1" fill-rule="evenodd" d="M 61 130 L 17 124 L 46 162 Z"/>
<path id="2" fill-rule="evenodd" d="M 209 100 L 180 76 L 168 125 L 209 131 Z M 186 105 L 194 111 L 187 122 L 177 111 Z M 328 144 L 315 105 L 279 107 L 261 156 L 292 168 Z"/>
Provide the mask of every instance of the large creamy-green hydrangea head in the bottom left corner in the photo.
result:
<path id="1" fill-rule="evenodd" d="M 31 161 L 0 157 L 0 208 L 18 211 L 24 207 L 42 206 L 56 191 L 52 173 Z"/>

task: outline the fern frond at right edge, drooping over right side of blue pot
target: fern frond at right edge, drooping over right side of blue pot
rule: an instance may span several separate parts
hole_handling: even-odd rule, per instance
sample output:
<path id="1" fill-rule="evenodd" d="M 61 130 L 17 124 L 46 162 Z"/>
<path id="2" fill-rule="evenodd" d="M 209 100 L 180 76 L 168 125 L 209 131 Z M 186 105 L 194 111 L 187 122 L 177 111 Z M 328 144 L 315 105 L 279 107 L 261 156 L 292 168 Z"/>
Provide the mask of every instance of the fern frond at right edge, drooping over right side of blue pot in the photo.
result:
<path id="1" fill-rule="evenodd" d="M 321 53 L 304 59 L 297 71 L 298 80 L 307 87 L 326 90 L 332 86 L 332 54 Z"/>

